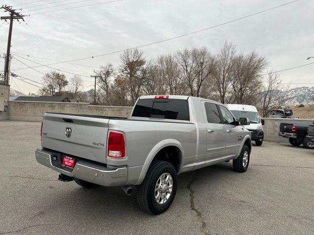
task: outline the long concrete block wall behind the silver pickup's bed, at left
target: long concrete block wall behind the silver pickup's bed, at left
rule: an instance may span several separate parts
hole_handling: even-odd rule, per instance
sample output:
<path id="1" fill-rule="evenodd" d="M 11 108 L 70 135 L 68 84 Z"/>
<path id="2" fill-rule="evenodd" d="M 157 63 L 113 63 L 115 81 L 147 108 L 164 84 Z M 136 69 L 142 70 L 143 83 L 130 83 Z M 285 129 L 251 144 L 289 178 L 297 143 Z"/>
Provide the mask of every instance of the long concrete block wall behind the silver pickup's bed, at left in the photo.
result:
<path id="1" fill-rule="evenodd" d="M 129 117 L 132 107 L 93 106 L 88 103 L 9 101 L 8 119 L 19 121 L 42 121 L 46 112 Z"/>

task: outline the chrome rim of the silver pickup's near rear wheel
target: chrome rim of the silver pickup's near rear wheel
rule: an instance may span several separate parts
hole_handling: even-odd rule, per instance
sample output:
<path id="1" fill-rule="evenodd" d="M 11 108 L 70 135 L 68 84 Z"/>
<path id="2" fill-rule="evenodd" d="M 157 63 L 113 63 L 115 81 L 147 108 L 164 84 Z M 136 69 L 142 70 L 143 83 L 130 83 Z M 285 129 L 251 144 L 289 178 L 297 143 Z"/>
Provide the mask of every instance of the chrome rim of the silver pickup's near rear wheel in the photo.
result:
<path id="1" fill-rule="evenodd" d="M 158 204 L 164 204 L 171 196 L 173 180 L 169 173 L 163 173 L 155 186 L 155 200 Z"/>

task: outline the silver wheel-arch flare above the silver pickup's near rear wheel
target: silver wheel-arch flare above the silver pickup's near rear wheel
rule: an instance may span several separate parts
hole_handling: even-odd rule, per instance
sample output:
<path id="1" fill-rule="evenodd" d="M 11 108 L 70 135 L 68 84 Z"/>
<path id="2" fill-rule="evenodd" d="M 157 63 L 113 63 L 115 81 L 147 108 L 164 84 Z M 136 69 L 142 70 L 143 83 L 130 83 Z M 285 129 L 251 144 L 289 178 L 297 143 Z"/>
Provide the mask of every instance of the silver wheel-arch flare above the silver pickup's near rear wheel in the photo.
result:
<path id="1" fill-rule="evenodd" d="M 183 156 L 184 156 L 184 152 L 183 152 L 183 146 L 182 144 L 177 141 L 177 140 L 174 140 L 174 139 L 167 139 L 167 140 L 163 140 L 163 141 L 160 141 L 158 142 L 154 147 L 153 149 L 151 150 L 151 152 L 148 154 L 146 160 L 145 160 L 145 163 L 143 165 L 143 168 L 141 170 L 141 174 L 139 176 L 139 179 L 137 180 L 137 182 L 135 183 L 135 185 L 139 185 L 142 183 L 142 181 L 144 180 L 145 176 L 146 176 L 146 173 L 148 171 L 148 168 L 149 166 L 151 165 L 153 159 L 155 158 L 155 156 L 157 155 L 157 153 L 163 149 L 164 147 L 167 147 L 167 146 L 175 146 L 175 147 L 178 147 L 181 151 L 181 154 L 180 154 L 180 169 L 179 169 L 179 172 L 181 170 L 181 167 L 182 167 L 182 160 L 183 160 Z"/>

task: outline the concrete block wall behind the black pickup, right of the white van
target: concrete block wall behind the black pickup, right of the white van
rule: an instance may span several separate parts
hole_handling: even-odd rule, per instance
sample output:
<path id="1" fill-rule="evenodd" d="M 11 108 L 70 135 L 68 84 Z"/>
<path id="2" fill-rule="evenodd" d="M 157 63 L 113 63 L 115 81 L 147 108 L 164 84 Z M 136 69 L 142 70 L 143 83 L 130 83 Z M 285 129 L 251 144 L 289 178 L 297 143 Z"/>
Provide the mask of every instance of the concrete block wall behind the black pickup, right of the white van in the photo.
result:
<path id="1" fill-rule="evenodd" d="M 264 129 L 264 141 L 272 142 L 288 142 L 287 138 L 278 136 L 280 123 L 291 123 L 300 126 L 309 126 L 313 124 L 312 119 L 299 119 L 299 118 L 262 118 L 265 120 Z"/>

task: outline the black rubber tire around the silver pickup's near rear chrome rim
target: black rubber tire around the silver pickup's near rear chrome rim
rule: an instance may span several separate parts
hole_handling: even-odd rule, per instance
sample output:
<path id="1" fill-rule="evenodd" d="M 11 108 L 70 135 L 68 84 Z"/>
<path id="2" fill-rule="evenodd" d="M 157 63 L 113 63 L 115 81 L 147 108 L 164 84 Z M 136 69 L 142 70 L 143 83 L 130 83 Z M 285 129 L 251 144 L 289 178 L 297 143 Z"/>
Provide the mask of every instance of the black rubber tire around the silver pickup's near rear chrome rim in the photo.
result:
<path id="1" fill-rule="evenodd" d="M 172 191 L 169 198 L 163 204 L 159 204 L 157 203 L 157 199 L 155 199 L 155 187 L 159 177 L 164 173 L 168 173 L 172 177 Z M 137 202 L 144 211 L 152 214 L 161 214 L 171 206 L 177 192 L 177 187 L 178 180 L 175 167 L 168 162 L 153 161 L 146 173 L 144 181 L 138 186 Z"/>

